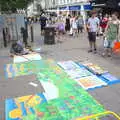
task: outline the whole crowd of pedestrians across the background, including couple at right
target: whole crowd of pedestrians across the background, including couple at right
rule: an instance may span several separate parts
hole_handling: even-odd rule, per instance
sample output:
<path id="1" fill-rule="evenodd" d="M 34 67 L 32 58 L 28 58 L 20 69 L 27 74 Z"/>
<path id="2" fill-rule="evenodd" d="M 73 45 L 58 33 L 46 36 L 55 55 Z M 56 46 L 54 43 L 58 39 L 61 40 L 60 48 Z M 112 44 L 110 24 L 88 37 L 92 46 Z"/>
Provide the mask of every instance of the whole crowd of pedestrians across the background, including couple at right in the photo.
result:
<path id="1" fill-rule="evenodd" d="M 54 18 L 54 19 L 53 19 Z M 86 20 L 83 19 L 82 15 L 59 15 L 50 16 L 42 14 L 36 19 L 28 19 L 28 24 L 33 22 L 39 22 L 41 26 L 41 35 L 44 35 L 46 26 L 54 25 L 56 28 L 56 36 L 60 40 L 63 40 L 65 34 L 70 36 L 78 37 L 80 33 L 88 33 L 89 50 L 88 52 L 97 53 L 97 36 L 103 40 L 104 52 L 102 56 L 111 56 L 115 42 L 120 41 L 120 20 L 118 19 L 118 13 L 111 15 L 98 14 L 96 11 L 91 11 L 90 17 Z M 27 46 L 26 37 L 24 37 L 24 31 L 21 29 L 23 35 L 23 42 Z M 80 39 L 80 38 L 79 38 Z"/>

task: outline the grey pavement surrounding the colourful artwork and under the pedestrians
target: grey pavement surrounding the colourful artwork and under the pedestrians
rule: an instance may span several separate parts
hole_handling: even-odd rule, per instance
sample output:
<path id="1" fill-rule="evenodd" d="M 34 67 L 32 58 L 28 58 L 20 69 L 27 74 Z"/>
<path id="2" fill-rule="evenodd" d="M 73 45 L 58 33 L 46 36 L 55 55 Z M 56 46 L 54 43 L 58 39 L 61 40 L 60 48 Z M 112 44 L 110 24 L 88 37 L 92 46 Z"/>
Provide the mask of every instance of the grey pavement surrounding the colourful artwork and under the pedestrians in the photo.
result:
<path id="1" fill-rule="evenodd" d="M 72 37 L 69 35 L 61 36 L 60 43 L 56 42 L 54 45 L 44 45 L 43 40 L 40 36 L 40 26 L 38 24 L 34 25 L 34 43 L 30 43 L 34 48 L 41 48 L 41 56 L 45 59 L 52 58 L 56 61 L 64 61 L 64 60 L 73 60 L 77 62 L 85 62 L 90 61 L 92 63 L 98 64 L 105 70 L 109 71 L 116 77 L 120 78 L 120 55 L 112 55 L 112 57 L 103 58 L 101 56 L 103 52 L 103 40 L 101 37 L 97 39 L 97 54 L 88 53 L 89 44 L 87 39 L 87 34 L 80 33 L 77 37 Z M 58 38 L 56 38 L 58 39 Z M 4 76 L 4 64 L 12 63 L 12 58 L 9 57 L 9 47 L 8 48 L 0 48 L 0 120 L 5 120 L 5 98 L 10 97 L 18 97 L 24 95 L 23 87 L 19 87 L 17 90 L 17 85 L 19 82 L 15 82 L 11 84 L 6 80 Z M 34 78 L 34 76 L 32 76 Z M 29 76 L 23 76 L 17 78 L 18 81 L 22 82 L 22 79 L 29 80 Z M 12 81 L 12 80 L 11 80 Z M 34 81 L 36 79 L 34 78 Z M 13 81 L 12 81 L 13 82 Z M 28 81 L 29 82 L 29 81 Z M 26 83 L 22 82 L 21 85 Z M 11 87 L 14 87 L 12 90 Z M 6 87 L 5 87 L 6 86 Z M 40 85 L 41 86 L 41 85 Z M 10 87 L 10 91 L 8 88 Z M 7 89 L 6 89 L 7 88 Z M 25 90 L 25 94 L 38 93 L 42 92 L 41 89 L 32 90 L 31 88 Z M 14 90 L 17 90 L 14 92 Z M 8 92 L 9 91 L 9 92 Z M 20 92 L 19 92 L 20 91 Z M 20 93 L 20 94 L 18 94 Z M 120 84 L 115 84 L 103 88 L 98 88 L 93 91 L 89 91 L 89 93 L 99 102 L 101 103 L 107 110 L 116 112 L 120 115 Z"/>

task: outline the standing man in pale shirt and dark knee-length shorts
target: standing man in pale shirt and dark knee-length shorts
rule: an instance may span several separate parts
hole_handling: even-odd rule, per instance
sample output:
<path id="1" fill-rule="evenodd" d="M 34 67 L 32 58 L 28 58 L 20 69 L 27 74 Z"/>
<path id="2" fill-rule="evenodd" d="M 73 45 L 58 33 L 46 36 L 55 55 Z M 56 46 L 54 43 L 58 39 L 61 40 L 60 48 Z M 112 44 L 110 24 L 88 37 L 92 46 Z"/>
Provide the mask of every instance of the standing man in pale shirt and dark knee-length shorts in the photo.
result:
<path id="1" fill-rule="evenodd" d="M 96 33 L 99 30 L 99 19 L 96 17 L 96 12 L 91 12 L 91 17 L 88 19 L 87 22 L 87 29 L 88 29 L 88 38 L 90 44 L 90 50 L 88 52 L 97 52 L 96 48 Z M 94 49 L 93 49 L 94 48 Z"/>

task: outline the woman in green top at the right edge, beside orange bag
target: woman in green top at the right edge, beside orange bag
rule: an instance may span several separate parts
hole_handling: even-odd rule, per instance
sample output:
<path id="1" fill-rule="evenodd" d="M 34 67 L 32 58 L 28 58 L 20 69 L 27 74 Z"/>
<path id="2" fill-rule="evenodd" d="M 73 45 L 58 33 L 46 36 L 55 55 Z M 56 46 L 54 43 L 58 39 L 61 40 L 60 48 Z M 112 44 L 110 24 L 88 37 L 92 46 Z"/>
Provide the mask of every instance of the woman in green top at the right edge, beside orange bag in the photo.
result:
<path id="1" fill-rule="evenodd" d="M 111 57 L 114 41 L 120 40 L 120 21 L 118 20 L 117 13 L 112 14 L 112 19 L 109 20 L 105 30 L 105 37 L 107 45 L 103 56 L 107 55 L 108 57 Z"/>

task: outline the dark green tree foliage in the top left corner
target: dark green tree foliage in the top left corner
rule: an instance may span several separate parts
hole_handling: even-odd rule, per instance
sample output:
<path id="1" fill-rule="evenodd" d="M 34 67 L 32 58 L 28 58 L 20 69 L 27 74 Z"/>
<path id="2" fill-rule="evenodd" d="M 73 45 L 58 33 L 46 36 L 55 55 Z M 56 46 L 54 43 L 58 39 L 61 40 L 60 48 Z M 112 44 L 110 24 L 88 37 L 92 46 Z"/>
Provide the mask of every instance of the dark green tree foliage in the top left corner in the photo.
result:
<path id="1" fill-rule="evenodd" d="M 17 9 L 25 9 L 33 0 L 0 0 L 1 11 L 16 12 Z"/>

